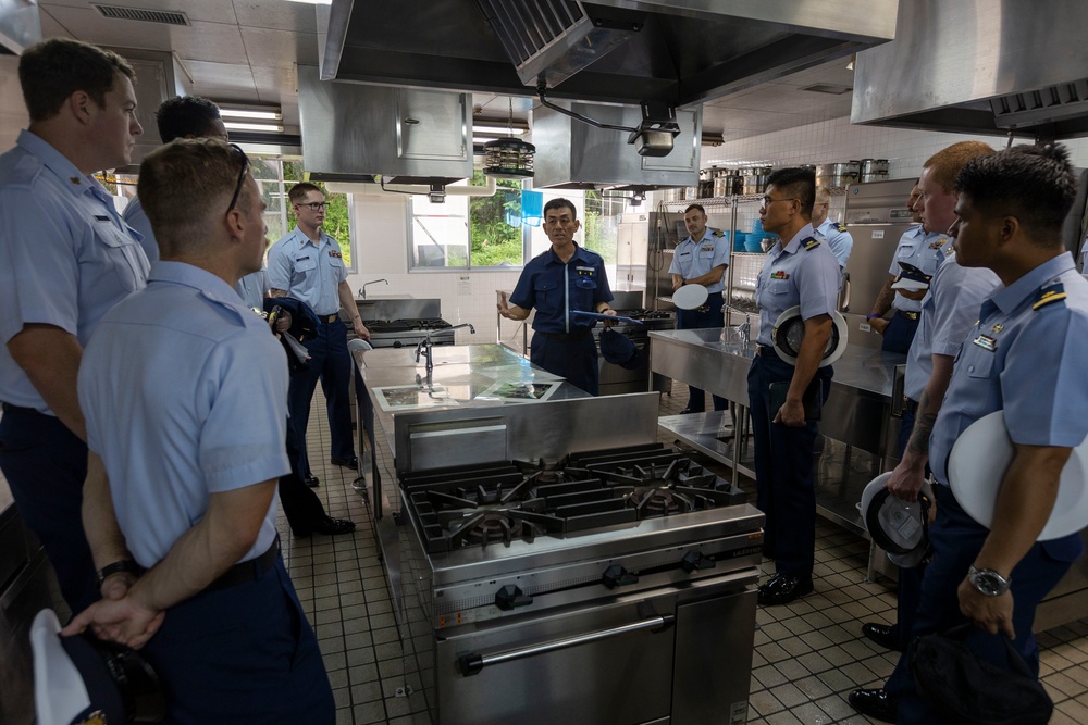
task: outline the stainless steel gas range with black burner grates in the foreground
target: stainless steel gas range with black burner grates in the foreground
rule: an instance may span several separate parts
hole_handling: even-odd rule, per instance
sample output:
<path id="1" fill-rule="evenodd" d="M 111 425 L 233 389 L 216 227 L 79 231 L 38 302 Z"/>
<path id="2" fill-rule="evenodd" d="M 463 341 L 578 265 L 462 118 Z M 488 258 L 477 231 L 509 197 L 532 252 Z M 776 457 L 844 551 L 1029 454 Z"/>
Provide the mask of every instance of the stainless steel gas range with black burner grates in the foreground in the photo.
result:
<path id="1" fill-rule="evenodd" d="M 743 723 L 764 516 L 659 443 L 400 477 L 433 723 Z"/>

